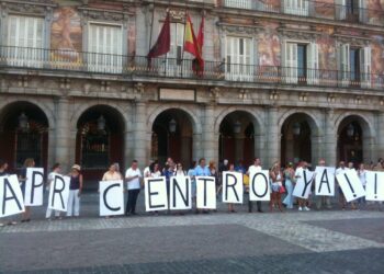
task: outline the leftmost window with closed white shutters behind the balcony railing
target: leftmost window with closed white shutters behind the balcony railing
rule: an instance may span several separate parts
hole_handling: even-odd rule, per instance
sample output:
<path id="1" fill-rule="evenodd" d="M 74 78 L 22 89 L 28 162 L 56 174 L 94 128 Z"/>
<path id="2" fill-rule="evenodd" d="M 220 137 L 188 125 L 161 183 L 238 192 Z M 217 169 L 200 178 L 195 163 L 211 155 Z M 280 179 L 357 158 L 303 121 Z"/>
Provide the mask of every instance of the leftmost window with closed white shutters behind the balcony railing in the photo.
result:
<path id="1" fill-rule="evenodd" d="M 45 58 L 44 19 L 10 15 L 5 56 L 8 64 L 20 67 L 42 67 Z"/>

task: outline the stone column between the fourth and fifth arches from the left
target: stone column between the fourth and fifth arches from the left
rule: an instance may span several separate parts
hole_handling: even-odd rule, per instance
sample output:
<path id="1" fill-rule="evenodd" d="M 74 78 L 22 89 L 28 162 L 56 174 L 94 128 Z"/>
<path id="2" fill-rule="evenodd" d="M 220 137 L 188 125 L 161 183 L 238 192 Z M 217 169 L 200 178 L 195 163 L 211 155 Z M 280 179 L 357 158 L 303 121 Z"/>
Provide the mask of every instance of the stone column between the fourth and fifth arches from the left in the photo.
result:
<path id="1" fill-rule="evenodd" d="M 280 161 L 281 135 L 278 125 L 279 109 L 271 106 L 268 110 L 267 158 L 261 159 L 262 167 L 269 168 L 274 161 Z"/>

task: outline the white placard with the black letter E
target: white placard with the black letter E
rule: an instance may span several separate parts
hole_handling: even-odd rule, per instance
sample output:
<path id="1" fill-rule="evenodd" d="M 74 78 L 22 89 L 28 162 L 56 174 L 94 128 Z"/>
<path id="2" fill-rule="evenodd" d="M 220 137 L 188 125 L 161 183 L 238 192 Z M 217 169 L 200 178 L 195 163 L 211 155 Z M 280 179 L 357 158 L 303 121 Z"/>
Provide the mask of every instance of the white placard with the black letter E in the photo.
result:
<path id="1" fill-rule="evenodd" d="M 146 212 L 168 209 L 167 181 L 165 176 L 145 178 L 144 187 Z"/>

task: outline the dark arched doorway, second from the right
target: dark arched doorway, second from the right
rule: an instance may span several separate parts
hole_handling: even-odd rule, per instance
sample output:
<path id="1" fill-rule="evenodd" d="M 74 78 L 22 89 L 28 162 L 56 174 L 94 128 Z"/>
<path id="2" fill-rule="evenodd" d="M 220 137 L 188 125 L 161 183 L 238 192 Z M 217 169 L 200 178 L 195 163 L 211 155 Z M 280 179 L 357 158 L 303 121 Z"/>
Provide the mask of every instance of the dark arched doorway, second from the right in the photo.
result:
<path id="1" fill-rule="evenodd" d="M 312 162 L 313 155 L 313 123 L 305 113 L 295 113 L 289 116 L 281 127 L 281 164 L 289 162 Z"/>

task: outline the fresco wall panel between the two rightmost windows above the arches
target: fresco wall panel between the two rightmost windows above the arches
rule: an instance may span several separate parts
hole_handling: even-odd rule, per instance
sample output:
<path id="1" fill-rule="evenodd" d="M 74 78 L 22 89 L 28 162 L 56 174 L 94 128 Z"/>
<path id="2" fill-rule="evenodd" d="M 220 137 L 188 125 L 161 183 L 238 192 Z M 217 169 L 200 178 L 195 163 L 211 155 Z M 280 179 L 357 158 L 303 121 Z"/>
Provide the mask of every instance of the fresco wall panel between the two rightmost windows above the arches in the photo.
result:
<path id="1" fill-rule="evenodd" d="M 319 53 L 319 69 L 321 71 L 337 70 L 336 41 L 332 37 L 334 27 L 316 26 L 316 32 L 321 33 L 316 41 Z"/>

